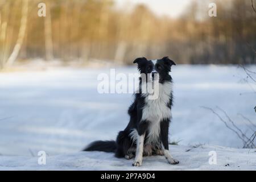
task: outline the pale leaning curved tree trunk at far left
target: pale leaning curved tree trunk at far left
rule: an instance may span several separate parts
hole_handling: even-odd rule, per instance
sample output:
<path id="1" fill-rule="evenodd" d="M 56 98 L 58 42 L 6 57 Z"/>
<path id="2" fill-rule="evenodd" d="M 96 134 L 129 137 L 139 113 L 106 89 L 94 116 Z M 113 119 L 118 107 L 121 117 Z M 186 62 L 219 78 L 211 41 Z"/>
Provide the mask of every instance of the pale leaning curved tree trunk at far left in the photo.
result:
<path id="1" fill-rule="evenodd" d="M 22 6 L 22 18 L 20 19 L 20 27 L 17 42 L 14 46 L 13 52 L 11 53 L 9 59 L 7 60 L 7 65 L 11 65 L 17 59 L 19 55 L 20 48 L 23 43 L 23 39 L 26 33 L 27 27 L 27 14 L 28 14 L 28 0 L 23 0 Z"/>

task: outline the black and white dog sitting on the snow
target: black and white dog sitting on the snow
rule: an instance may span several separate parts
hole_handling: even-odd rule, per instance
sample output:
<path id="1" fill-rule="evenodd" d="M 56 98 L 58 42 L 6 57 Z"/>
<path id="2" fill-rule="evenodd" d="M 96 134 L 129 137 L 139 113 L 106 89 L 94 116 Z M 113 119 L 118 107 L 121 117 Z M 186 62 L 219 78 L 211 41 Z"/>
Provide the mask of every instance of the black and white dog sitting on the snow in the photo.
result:
<path id="1" fill-rule="evenodd" d="M 135 93 L 134 102 L 128 110 L 130 122 L 125 130 L 119 132 L 115 141 L 96 141 L 84 151 L 115 152 L 117 158 L 126 159 L 135 156 L 133 166 L 142 165 L 143 155 L 164 155 L 170 164 L 178 164 L 179 161 L 172 157 L 168 146 L 172 107 L 172 77 L 169 73 L 171 66 L 176 64 L 168 57 L 158 60 L 140 57 L 133 63 L 138 64 L 141 75 L 150 77 L 140 77 L 139 92 Z M 151 94 L 143 92 L 142 88 L 156 81 L 158 97 L 150 99 Z"/>

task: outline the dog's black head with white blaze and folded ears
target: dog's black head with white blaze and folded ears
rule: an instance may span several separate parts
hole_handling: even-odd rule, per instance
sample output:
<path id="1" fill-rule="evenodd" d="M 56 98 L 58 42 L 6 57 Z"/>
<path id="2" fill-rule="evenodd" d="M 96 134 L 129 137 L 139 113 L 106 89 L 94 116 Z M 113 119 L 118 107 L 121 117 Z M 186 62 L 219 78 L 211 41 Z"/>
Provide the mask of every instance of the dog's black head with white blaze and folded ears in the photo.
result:
<path id="1" fill-rule="evenodd" d="M 159 80 L 159 82 L 170 81 L 171 66 L 176 65 L 174 61 L 168 57 L 157 60 L 147 60 L 146 57 L 139 57 L 133 61 L 138 64 L 138 70 L 141 74 L 150 76 L 150 80 Z M 148 79 L 147 79 L 148 80 Z"/>

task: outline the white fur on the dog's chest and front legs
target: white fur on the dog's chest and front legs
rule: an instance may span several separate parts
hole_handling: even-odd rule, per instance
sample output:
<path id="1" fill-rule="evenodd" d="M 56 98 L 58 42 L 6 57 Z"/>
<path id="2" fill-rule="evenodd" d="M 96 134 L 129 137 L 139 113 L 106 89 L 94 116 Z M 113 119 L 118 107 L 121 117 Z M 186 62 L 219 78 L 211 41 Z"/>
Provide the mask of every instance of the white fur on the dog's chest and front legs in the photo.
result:
<path id="1" fill-rule="evenodd" d="M 150 126 L 148 127 L 147 143 L 145 144 L 162 143 L 159 141 L 160 122 L 162 121 L 162 119 L 171 118 L 171 110 L 167 106 L 170 102 L 171 91 L 172 83 L 164 82 L 164 84 L 159 83 L 159 96 L 155 100 L 149 99 L 148 97 L 150 95 L 148 93 L 142 93 L 142 95 L 145 96 L 145 105 L 142 109 L 141 121 L 147 120 L 150 122 Z M 133 163 L 134 166 L 141 166 L 142 164 L 144 136 L 144 134 L 139 136 L 138 131 L 136 129 L 134 129 L 130 133 L 131 140 L 137 143 L 136 156 L 135 161 Z M 164 150 L 163 153 L 169 163 L 178 163 L 177 160 L 172 158 L 172 155 L 168 150 Z"/>

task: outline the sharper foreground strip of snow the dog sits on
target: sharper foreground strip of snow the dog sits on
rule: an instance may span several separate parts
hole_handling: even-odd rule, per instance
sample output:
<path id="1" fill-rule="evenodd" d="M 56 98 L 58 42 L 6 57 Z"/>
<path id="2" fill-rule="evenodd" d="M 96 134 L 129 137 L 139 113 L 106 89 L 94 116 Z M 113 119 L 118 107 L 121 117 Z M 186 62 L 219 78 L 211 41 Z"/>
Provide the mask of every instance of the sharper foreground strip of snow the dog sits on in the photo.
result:
<path id="1" fill-rule="evenodd" d="M 144 157 L 141 167 L 133 167 L 133 159 L 118 159 L 112 153 L 74 152 L 46 157 L 0 156 L 0 170 L 255 170 L 255 150 L 220 146 L 170 146 L 179 164 L 167 163 L 164 156 Z M 189 150 L 190 149 L 190 150 Z M 189 151 L 188 151 L 189 150 Z M 209 163 L 209 152 L 216 152 L 216 164 Z"/>

